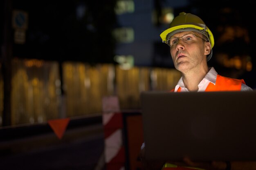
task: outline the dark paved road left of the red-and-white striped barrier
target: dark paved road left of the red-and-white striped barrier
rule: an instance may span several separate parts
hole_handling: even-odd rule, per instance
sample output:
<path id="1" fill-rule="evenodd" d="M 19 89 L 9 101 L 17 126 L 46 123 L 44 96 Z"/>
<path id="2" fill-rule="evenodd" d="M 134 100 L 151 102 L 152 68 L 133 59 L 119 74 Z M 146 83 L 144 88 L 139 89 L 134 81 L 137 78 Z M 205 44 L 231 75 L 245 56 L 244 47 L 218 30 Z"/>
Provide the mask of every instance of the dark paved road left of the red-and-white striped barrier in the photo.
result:
<path id="1" fill-rule="evenodd" d="M 61 140 L 50 133 L 0 146 L 1 170 L 95 170 L 103 153 L 104 135 L 99 125 L 69 130 Z"/>

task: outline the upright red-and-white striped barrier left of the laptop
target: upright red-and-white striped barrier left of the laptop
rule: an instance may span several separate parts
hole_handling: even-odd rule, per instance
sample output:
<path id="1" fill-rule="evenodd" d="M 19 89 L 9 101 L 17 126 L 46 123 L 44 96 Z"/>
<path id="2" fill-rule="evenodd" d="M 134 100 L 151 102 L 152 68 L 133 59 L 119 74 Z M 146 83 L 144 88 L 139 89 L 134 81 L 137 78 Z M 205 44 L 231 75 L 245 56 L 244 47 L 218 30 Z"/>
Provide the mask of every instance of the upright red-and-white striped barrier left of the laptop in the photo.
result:
<path id="1" fill-rule="evenodd" d="M 125 148 L 122 137 L 124 125 L 118 99 L 115 96 L 104 97 L 102 103 L 106 170 L 125 170 Z"/>

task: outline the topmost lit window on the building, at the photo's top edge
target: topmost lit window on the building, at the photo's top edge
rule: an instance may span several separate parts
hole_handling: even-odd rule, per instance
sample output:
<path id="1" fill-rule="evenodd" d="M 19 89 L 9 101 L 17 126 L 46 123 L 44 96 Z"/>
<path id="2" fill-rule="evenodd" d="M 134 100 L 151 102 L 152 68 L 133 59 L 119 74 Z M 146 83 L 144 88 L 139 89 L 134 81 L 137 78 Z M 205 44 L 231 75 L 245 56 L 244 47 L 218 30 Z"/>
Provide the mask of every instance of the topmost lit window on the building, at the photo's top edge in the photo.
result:
<path id="1" fill-rule="evenodd" d="M 117 6 L 115 8 L 117 15 L 123 13 L 133 13 L 134 12 L 134 2 L 133 0 L 117 0 Z"/>

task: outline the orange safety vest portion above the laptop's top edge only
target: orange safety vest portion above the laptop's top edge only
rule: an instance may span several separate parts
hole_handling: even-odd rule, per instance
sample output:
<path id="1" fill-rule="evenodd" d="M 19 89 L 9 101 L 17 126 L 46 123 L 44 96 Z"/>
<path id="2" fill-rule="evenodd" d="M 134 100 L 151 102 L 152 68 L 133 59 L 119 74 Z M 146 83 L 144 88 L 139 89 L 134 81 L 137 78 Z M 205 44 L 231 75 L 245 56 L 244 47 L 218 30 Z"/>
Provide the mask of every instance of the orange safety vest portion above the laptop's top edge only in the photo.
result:
<path id="1" fill-rule="evenodd" d="M 245 84 L 243 79 L 236 79 L 236 78 L 229 78 L 217 75 L 216 84 L 209 83 L 206 87 L 205 92 L 212 92 L 212 91 L 240 91 L 241 85 Z M 177 92 L 181 91 L 181 87 L 177 90 Z M 174 92 L 174 89 L 171 90 Z"/>

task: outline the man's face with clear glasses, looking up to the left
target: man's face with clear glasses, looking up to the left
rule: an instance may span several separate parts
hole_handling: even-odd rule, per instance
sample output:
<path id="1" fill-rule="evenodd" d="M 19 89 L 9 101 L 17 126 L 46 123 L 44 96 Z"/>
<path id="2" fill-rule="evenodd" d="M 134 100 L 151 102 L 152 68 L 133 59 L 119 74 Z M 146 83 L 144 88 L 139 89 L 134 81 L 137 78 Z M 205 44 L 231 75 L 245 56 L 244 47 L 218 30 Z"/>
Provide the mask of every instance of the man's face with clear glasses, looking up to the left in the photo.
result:
<path id="1" fill-rule="evenodd" d="M 190 35 L 188 38 L 186 35 Z M 185 36 L 185 38 L 180 38 Z M 177 38 L 171 41 L 171 56 L 174 66 L 182 73 L 201 69 L 207 65 L 206 55 L 209 54 L 211 46 L 209 42 L 202 40 L 203 35 L 193 31 L 179 32 L 171 36 Z"/>

